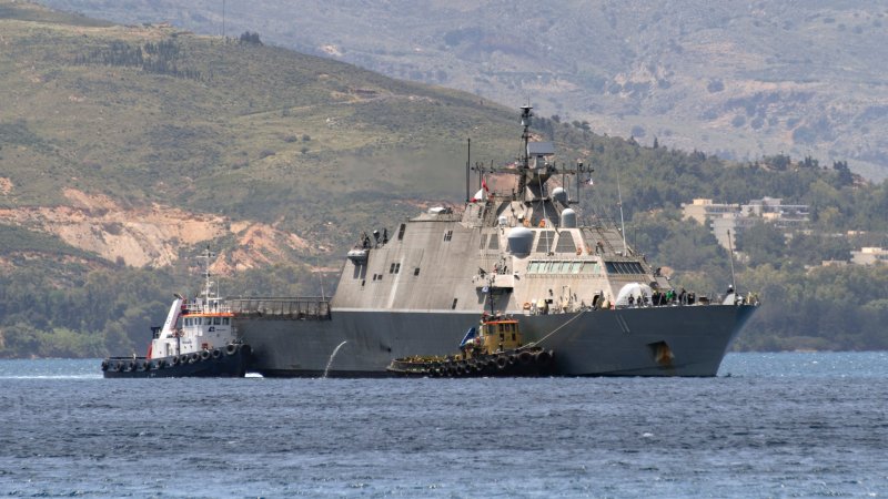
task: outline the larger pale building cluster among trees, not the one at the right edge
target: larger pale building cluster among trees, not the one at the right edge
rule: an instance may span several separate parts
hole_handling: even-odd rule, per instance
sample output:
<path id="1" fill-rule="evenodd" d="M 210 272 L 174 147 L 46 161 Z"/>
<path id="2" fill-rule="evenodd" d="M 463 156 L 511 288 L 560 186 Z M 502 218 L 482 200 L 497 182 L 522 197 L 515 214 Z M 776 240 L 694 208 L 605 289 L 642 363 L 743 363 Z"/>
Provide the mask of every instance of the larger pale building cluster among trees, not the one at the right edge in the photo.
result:
<path id="1" fill-rule="evenodd" d="M 803 228 L 810 220 L 808 205 L 783 204 L 783 200 L 778 197 L 763 197 L 748 204 L 713 203 L 713 200 L 696 198 L 690 204 L 685 204 L 683 211 L 685 218 L 694 218 L 708 226 L 718 244 L 726 249 L 734 246 L 736 234 L 758 221 L 779 228 L 797 230 Z"/>

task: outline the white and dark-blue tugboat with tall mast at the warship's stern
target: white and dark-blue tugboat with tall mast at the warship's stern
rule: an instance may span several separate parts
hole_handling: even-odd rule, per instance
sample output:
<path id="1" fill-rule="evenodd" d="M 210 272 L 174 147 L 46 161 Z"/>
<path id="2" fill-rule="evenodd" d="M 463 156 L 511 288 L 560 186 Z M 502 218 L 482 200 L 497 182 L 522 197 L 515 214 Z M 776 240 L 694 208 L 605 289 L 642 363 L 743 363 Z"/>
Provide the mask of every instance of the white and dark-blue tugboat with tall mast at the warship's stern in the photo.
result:
<path id="1" fill-rule="evenodd" d="M 234 313 L 212 291 L 206 252 L 204 288 L 200 297 L 175 299 L 163 326 L 151 328 L 153 339 L 144 357 L 108 357 L 102 360 L 105 378 L 244 377 L 251 359 L 250 345 L 234 328 Z"/>

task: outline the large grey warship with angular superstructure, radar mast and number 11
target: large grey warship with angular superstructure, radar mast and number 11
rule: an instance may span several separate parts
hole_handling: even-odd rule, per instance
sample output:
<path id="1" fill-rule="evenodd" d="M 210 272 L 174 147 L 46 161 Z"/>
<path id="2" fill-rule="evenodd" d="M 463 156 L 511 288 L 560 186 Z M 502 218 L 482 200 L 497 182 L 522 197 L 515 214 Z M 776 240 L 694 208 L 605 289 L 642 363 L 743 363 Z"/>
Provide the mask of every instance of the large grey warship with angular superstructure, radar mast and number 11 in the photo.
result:
<path id="1" fill-rule="evenodd" d="M 523 106 L 515 163 L 466 162 L 462 212 L 432 207 L 391 234 L 360 237 L 332 298 L 228 298 L 253 347 L 250 370 L 387 376 L 395 358 L 450 352 L 490 306 L 555 352 L 555 376 L 715 376 L 757 303 L 676 294 L 615 223 L 578 224 L 567 190 L 548 184 L 589 169 L 558 167 L 552 143 L 531 141 L 532 116 Z M 470 170 L 482 179 L 473 197 Z M 512 174 L 516 185 L 488 191 L 488 174 Z"/>

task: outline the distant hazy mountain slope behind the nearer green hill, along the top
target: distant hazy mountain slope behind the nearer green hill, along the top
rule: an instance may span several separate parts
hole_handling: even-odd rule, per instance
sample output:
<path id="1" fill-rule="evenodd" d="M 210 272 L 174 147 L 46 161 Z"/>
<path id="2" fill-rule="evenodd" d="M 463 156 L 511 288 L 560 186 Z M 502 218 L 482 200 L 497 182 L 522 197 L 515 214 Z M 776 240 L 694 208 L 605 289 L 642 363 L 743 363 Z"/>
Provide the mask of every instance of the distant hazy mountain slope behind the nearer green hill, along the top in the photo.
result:
<path id="1" fill-rule="evenodd" d="M 222 32 L 210 0 L 43 0 Z M 817 0 L 228 2 L 263 40 L 650 144 L 847 160 L 888 175 L 888 3 Z"/>

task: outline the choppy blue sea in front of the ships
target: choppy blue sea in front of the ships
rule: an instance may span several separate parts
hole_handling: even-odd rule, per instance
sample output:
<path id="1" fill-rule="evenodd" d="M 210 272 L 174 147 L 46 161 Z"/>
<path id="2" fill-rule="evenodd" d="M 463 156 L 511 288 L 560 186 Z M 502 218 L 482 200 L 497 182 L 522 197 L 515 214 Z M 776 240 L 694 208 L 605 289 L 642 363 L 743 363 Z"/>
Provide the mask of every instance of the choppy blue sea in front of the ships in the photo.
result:
<path id="1" fill-rule="evenodd" d="M 102 379 L 0 360 L 0 496 L 886 497 L 888 353 L 719 376 Z"/>

